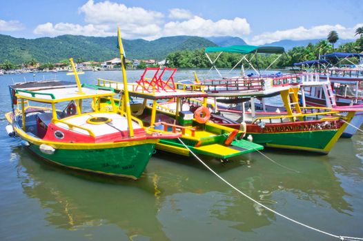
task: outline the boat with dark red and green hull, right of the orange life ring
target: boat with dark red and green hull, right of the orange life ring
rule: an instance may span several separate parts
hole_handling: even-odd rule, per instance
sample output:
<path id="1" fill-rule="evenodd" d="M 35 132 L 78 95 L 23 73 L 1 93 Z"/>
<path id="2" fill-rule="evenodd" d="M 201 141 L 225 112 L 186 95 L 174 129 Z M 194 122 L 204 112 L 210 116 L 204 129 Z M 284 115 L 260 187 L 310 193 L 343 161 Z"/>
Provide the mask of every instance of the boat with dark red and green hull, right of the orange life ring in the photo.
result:
<path id="1" fill-rule="evenodd" d="M 228 110 L 216 109 L 224 116 L 212 115 L 211 121 L 235 129 L 246 129 L 246 136 L 253 142 L 266 147 L 315 151 L 328 154 L 337 139 L 351 121 L 357 109 L 347 109 L 349 114 L 328 108 L 300 107 L 297 92 L 300 76 L 279 76 L 259 78 L 238 78 L 201 81 L 208 96 L 227 98 L 235 103 L 251 99 L 250 115 L 242 114 L 230 120 Z M 215 85 L 215 86 L 213 86 Z M 178 88 L 188 89 L 187 84 L 177 84 Z M 286 114 L 255 112 L 255 98 L 280 95 Z M 217 105 L 216 105 L 217 106 Z"/>

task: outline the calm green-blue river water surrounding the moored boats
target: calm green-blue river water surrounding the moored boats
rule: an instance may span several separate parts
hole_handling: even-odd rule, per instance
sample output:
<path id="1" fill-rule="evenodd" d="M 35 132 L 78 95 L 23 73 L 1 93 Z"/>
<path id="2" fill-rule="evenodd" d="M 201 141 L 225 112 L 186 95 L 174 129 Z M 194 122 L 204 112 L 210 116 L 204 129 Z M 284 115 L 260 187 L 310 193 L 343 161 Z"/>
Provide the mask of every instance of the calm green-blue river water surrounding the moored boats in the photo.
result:
<path id="1" fill-rule="evenodd" d="M 142 72 L 130 71 L 136 80 Z M 206 72 L 198 72 L 203 78 Z M 237 72 L 236 72 L 237 74 Z M 37 73 L 36 79 L 52 78 Z M 73 76 L 57 73 L 59 80 Z M 176 78 L 192 78 L 181 70 Z M 8 85 L 32 74 L 0 76 L 0 240 L 337 240 L 255 205 L 193 158 L 155 154 L 141 179 L 77 174 L 42 163 L 6 134 Z M 120 80 L 118 71 L 86 72 Z M 231 163 L 208 161 L 262 204 L 335 235 L 363 237 L 363 135 L 340 139 L 326 156 L 265 150 Z"/>

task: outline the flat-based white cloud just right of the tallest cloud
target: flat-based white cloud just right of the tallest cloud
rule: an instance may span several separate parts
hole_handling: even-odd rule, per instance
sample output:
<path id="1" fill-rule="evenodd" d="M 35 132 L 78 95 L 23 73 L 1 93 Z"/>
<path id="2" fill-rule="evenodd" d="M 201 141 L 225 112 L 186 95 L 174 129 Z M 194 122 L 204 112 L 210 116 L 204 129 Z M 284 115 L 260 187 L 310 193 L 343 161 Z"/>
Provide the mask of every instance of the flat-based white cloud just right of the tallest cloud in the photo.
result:
<path id="1" fill-rule="evenodd" d="M 250 32 L 250 24 L 246 19 L 236 17 L 233 20 L 221 19 L 214 22 L 195 16 L 188 21 L 166 23 L 163 35 L 246 36 Z"/>

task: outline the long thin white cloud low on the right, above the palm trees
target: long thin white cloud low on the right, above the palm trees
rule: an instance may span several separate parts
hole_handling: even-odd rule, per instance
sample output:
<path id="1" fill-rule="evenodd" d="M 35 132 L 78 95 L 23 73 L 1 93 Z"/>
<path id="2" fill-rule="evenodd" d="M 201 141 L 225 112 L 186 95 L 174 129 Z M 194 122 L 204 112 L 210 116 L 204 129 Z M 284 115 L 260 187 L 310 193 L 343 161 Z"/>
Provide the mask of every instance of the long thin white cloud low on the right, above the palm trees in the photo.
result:
<path id="1" fill-rule="evenodd" d="M 319 25 L 312 28 L 304 28 L 302 26 L 289 30 L 277 30 L 275 32 L 264 32 L 253 36 L 248 43 L 262 45 L 272 43 L 282 39 L 304 40 L 304 39 L 322 39 L 328 36 L 328 33 L 335 30 L 340 39 L 354 39 L 355 30 L 362 26 L 363 23 L 355 25 L 353 28 L 346 28 L 340 24 L 337 25 Z"/>

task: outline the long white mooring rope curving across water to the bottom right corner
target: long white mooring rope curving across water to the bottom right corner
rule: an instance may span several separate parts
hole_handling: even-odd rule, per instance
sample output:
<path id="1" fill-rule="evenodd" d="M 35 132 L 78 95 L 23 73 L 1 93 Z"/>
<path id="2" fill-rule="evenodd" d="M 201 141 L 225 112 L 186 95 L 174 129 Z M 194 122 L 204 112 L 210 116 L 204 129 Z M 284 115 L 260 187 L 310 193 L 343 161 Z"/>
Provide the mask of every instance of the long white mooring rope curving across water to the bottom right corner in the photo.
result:
<path id="1" fill-rule="evenodd" d="M 278 216 L 280 216 L 282 218 L 286 218 L 287 220 L 289 220 L 291 222 L 295 222 L 296 224 L 300 224 L 303 227 L 306 227 L 308 229 L 312 229 L 312 230 L 317 231 L 317 232 L 320 232 L 320 233 L 324 233 L 324 234 L 329 235 L 329 236 L 334 237 L 334 238 L 339 238 L 340 240 L 352 240 L 352 241 L 355 241 L 355 240 L 363 240 L 363 238 L 355 238 L 355 237 L 349 237 L 349 236 L 335 235 L 333 233 L 328 233 L 326 231 L 322 231 L 320 229 L 316 229 L 314 227 L 308 226 L 307 224 L 303 224 L 302 222 L 298 222 L 296 220 L 293 220 L 292 218 L 288 218 L 287 216 L 284 216 L 283 214 L 278 213 L 277 211 L 275 211 L 273 209 L 270 209 L 269 207 L 266 207 L 265 205 L 262 205 L 262 203 L 254 200 L 253 198 L 251 198 L 250 196 L 248 196 L 246 193 L 244 193 L 243 191 L 240 191 L 239 189 L 237 189 L 237 187 L 235 187 L 232 184 L 230 184 L 227 180 L 225 180 L 224 178 L 222 178 L 222 176 L 219 176 L 215 171 L 213 171 L 213 169 L 211 169 L 208 165 L 206 165 L 206 163 L 204 163 L 204 161 L 201 160 L 192 150 L 190 150 L 189 147 L 187 145 L 185 145 L 185 143 L 180 138 L 178 138 L 178 140 L 180 141 L 181 144 L 184 145 L 184 147 L 186 147 L 186 149 L 188 149 L 188 151 L 190 151 L 191 154 L 193 154 L 193 156 L 195 156 L 195 158 L 197 158 L 197 160 L 199 160 L 200 163 L 202 163 L 204 165 L 204 167 L 206 167 L 209 171 L 211 171 L 213 174 L 215 174 L 215 176 L 217 176 L 220 180 L 222 180 L 228 186 L 230 186 L 233 189 L 235 189 L 235 191 L 237 191 L 238 193 L 241 193 L 243 196 L 245 196 L 249 200 L 255 202 L 257 205 L 260 205 L 261 207 L 264 207 L 268 211 L 271 211 L 271 212 L 275 213 L 276 215 L 278 215 Z"/>

